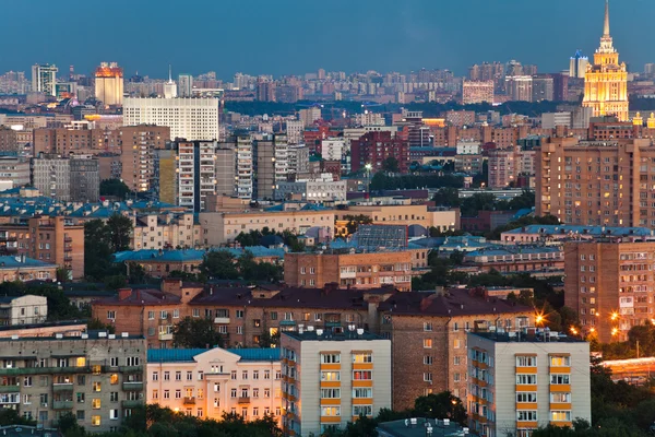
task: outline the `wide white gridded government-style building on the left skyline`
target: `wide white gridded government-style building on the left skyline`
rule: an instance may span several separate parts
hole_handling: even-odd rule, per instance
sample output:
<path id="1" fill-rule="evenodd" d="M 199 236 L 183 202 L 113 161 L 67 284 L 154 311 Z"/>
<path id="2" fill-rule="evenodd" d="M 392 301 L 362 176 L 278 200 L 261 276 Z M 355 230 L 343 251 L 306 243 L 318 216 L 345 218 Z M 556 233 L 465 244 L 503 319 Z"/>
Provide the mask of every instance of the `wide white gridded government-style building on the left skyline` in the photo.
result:
<path id="1" fill-rule="evenodd" d="M 218 99 L 196 97 L 126 97 L 123 126 L 156 125 L 170 128 L 171 139 L 218 139 Z"/>

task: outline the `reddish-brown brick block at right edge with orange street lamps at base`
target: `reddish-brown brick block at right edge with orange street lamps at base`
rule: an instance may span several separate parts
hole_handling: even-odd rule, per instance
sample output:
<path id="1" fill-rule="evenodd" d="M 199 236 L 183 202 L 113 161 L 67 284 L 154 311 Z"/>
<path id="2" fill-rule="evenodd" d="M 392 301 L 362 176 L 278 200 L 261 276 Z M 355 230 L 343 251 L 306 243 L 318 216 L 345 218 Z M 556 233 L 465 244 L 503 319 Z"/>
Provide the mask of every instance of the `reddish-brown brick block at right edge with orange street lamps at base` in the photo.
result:
<path id="1" fill-rule="evenodd" d="M 618 237 L 564 245 L 564 304 L 603 343 L 628 339 L 653 319 L 655 241 Z M 600 273 L 602 272 L 602 273 Z"/>

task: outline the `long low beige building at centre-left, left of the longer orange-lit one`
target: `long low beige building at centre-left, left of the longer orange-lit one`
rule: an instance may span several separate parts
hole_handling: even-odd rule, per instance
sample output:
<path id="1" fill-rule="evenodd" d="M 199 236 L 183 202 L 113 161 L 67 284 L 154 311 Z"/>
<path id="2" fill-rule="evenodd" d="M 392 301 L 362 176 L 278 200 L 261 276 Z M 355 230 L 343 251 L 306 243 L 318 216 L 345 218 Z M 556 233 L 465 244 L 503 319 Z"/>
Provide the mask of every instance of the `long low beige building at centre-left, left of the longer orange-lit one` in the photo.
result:
<path id="1" fill-rule="evenodd" d="M 320 233 L 332 237 L 334 235 L 334 215 L 332 210 L 287 210 L 287 211 L 249 211 L 249 212 L 201 212 L 201 243 L 205 246 L 219 246 L 233 243 L 240 234 L 250 231 L 290 231 L 305 235 L 313 227 Z"/>

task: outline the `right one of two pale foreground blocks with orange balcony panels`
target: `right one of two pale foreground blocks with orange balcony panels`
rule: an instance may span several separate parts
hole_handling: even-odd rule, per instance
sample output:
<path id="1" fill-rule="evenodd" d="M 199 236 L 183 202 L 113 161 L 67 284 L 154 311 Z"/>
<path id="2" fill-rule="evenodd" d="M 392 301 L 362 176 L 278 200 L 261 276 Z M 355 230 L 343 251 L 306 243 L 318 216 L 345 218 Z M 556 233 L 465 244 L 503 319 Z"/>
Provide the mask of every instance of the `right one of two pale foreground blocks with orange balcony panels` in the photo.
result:
<path id="1" fill-rule="evenodd" d="M 547 425 L 592 420 L 590 344 L 558 332 L 468 333 L 469 427 L 529 437 Z"/>

